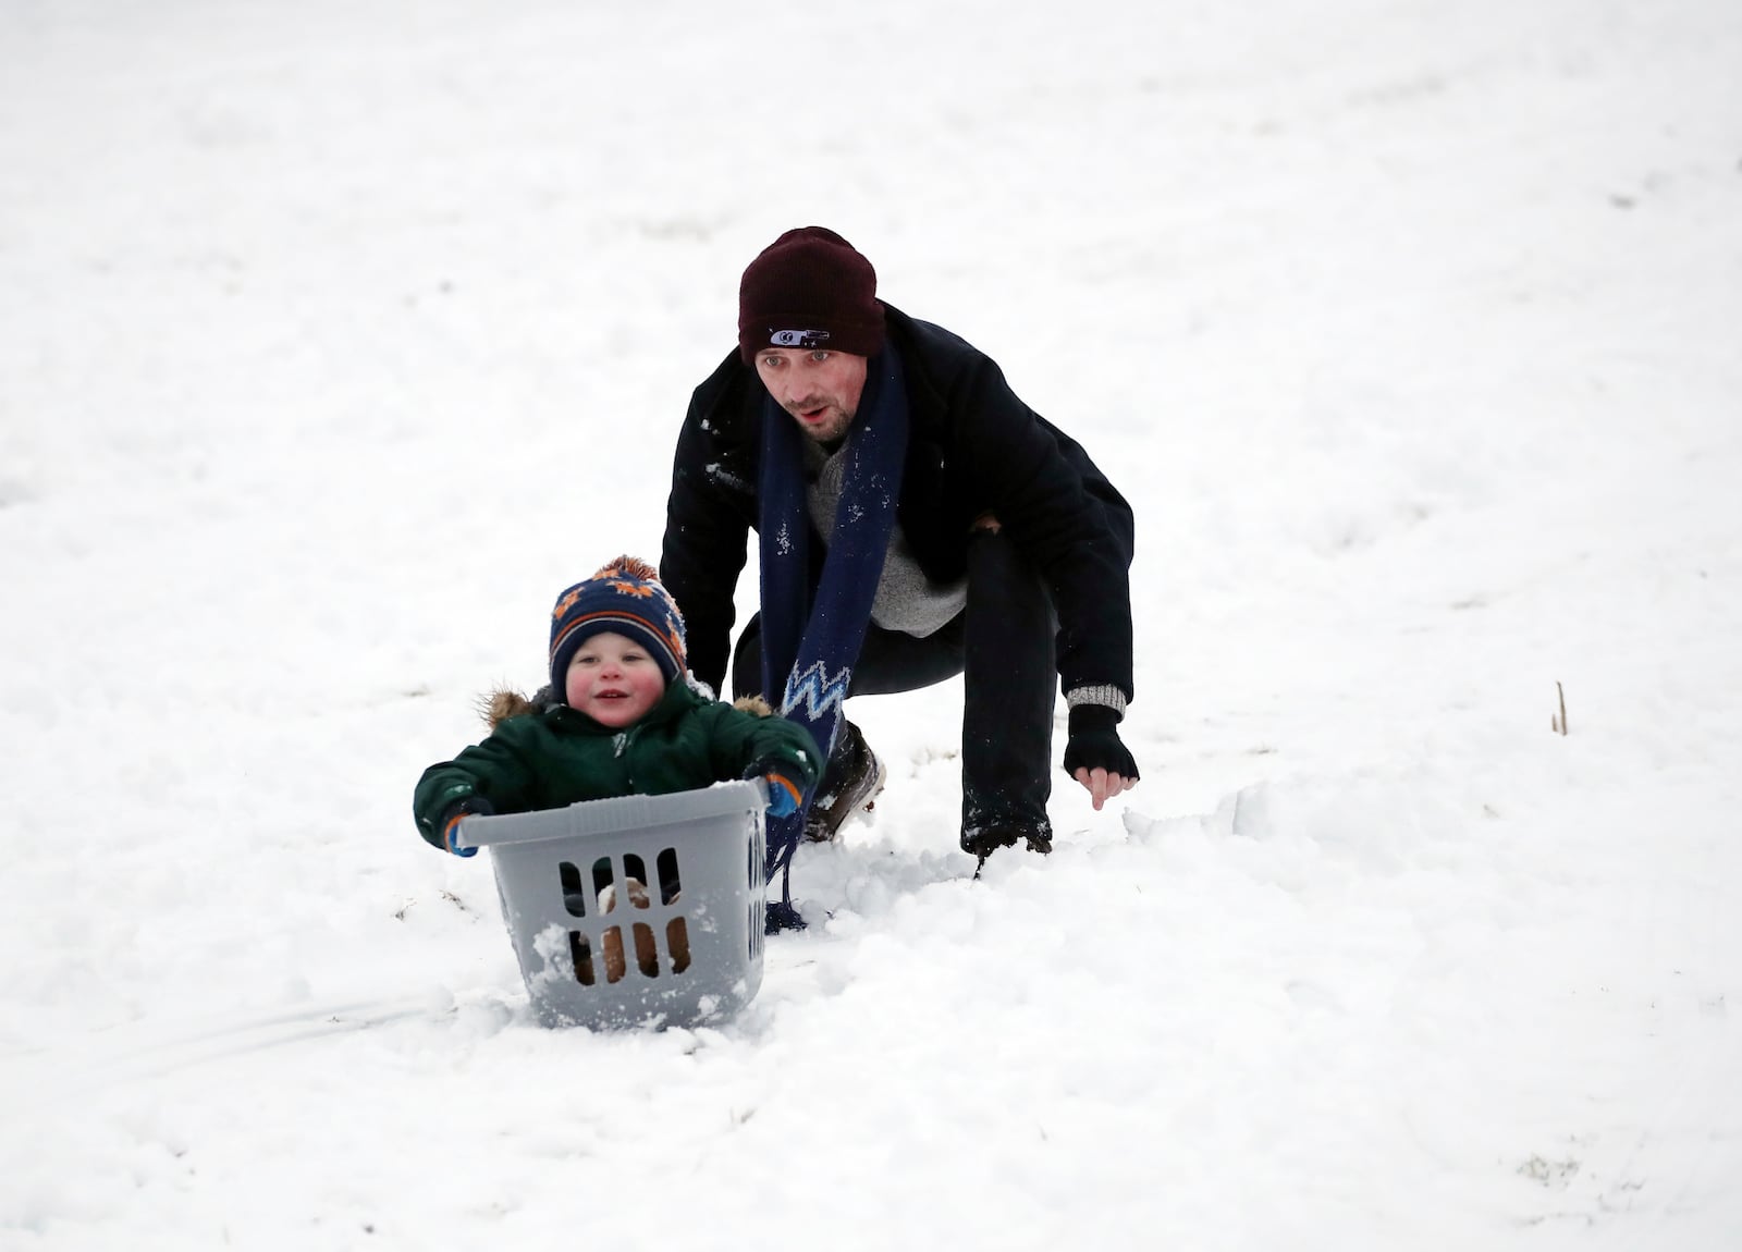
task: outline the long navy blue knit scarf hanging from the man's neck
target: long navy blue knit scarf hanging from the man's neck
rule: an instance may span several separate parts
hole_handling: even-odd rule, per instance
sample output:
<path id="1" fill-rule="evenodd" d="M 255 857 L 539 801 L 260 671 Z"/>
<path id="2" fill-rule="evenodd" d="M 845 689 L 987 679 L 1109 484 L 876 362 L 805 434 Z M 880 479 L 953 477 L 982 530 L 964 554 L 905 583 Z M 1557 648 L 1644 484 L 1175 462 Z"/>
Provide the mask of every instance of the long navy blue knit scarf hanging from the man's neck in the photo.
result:
<path id="1" fill-rule="evenodd" d="M 779 710 L 810 731 L 827 756 L 841 728 L 841 702 L 871 623 L 883 576 L 901 468 L 908 454 L 908 392 L 894 345 L 871 359 L 859 413 L 847 437 L 847 474 L 834 531 L 810 596 L 810 515 L 805 507 L 805 434 L 793 416 L 763 401 L 760 549 L 763 691 L 779 691 Z M 768 822 L 768 879 L 780 874 L 780 904 L 768 928 L 803 926 L 793 907 L 793 851 L 805 832 L 805 808 Z"/>

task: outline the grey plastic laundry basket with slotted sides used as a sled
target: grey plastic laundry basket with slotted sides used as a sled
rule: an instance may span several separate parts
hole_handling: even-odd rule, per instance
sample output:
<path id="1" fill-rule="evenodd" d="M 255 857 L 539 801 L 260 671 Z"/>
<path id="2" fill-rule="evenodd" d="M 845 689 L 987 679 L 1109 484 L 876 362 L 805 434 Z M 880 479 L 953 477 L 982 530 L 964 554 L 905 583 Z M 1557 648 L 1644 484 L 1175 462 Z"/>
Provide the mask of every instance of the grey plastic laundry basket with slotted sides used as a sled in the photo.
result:
<path id="1" fill-rule="evenodd" d="M 469 817 L 545 1026 L 695 1026 L 763 970 L 761 780 Z M 625 888 L 627 885 L 627 888 Z"/>

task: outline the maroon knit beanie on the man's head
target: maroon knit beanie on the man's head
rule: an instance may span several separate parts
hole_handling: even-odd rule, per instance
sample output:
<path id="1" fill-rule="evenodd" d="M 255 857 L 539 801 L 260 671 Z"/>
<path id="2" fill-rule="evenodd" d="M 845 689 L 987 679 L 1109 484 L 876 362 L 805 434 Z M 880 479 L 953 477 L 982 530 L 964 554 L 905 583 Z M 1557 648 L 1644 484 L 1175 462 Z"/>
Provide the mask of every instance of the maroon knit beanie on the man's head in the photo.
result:
<path id="1" fill-rule="evenodd" d="M 739 353 L 753 364 L 761 348 L 881 352 L 883 305 L 871 261 L 822 226 L 800 226 L 768 244 L 739 284 Z"/>

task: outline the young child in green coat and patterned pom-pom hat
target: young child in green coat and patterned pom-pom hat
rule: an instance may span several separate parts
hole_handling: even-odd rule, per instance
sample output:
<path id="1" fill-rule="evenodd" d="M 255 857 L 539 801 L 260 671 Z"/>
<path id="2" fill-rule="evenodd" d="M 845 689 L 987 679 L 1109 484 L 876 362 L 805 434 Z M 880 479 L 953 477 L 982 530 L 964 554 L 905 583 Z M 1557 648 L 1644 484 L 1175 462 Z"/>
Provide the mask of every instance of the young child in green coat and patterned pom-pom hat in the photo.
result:
<path id="1" fill-rule="evenodd" d="M 768 780 L 768 811 L 786 817 L 822 768 L 815 740 L 798 723 L 772 716 L 761 702 L 723 703 L 686 681 L 678 604 L 652 566 L 627 555 L 557 597 L 550 686 L 533 700 L 498 691 L 488 717 L 490 737 L 425 770 L 411 801 L 418 832 L 462 857 L 477 851 L 455 846 L 469 813 L 526 813 L 760 777 Z M 627 888 L 632 902 L 638 888 L 645 892 L 636 881 Z"/>

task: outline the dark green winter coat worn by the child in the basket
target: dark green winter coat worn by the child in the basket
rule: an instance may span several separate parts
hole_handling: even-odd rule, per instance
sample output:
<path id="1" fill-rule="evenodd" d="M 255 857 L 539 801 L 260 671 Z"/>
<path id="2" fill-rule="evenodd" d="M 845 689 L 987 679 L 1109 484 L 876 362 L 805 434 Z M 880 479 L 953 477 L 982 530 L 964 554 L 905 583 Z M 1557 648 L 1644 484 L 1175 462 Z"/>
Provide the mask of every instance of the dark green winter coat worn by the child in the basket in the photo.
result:
<path id="1" fill-rule="evenodd" d="M 418 778 L 411 811 L 434 846 L 442 846 L 442 822 L 453 806 L 470 796 L 498 813 L 528 813 L 770 771 L 808 792 L 822 764 L 815 740 L 798 723 L 712 700 L 688 683 L 669 684 L 648 716 L 625 730 L 601 726 L 561 702 L 524 707 L 531 710 L 496 721 L 483 744 Z"/>

